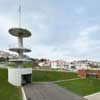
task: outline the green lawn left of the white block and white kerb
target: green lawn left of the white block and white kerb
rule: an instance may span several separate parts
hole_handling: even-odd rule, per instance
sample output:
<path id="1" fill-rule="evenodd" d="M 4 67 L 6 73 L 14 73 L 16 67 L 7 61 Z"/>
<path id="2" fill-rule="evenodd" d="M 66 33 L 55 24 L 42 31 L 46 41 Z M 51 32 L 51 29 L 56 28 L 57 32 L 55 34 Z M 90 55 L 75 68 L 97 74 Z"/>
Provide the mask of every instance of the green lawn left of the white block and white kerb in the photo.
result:
<path id="1" fill-rule="evenodd" d="M 22 100 L 21 90 L 8 83 L 6 69 L 0 69 L 0 100 Z"/>

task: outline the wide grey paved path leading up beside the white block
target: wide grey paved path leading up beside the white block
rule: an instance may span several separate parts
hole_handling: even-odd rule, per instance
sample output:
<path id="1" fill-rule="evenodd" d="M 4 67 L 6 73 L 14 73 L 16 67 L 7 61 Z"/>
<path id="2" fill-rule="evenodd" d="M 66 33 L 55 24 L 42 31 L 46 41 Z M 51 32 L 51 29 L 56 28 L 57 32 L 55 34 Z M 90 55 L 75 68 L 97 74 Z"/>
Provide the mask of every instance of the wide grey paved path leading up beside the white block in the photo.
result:
<path id="1" fill-rule="evenodd" d="M 86 100 L 53 83 L 33 83 L 24 90 L 28 100 Z"/>

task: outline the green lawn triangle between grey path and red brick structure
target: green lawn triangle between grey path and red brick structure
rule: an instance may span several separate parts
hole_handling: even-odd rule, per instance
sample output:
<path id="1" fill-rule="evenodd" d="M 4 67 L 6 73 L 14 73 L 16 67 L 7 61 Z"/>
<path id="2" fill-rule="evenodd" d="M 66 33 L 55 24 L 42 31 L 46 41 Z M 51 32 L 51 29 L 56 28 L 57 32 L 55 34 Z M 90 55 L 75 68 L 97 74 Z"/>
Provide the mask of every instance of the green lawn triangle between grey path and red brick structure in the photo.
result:
<path id="1" fill-rule="evenodd" d="M 57 84 L 81 96 L 100 92 L 100 80 L 95 78 L 58 82 Z"/>

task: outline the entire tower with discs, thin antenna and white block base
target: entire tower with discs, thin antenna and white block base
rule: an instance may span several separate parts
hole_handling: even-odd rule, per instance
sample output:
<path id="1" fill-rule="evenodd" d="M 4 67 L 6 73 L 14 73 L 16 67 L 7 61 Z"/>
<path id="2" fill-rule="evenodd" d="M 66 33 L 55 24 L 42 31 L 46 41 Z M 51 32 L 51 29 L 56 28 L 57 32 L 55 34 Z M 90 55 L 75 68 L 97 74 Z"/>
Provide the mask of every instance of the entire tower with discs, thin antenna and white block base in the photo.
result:
<path id="1" fill-rule="evenodd" d="M 21 28 L 21 6 L 19 6 L 19 27 L 9 29 L 9 33 L 18 38 L 18 46 L 10 48 L 10 51 L 18 53 L 18 59 L 10 59 L 11 62 L 17 64 L 17 68 L 8 68 L 8 82 L 21 86 L 31 83 L 32 68 L 24 68 L 23 62 L 29 61 L 23 57 L 24 52 L 30 52 L 30 49 L 24 48 L 23 38 L 31 36 L 31 32 L 27 29 Z"/>

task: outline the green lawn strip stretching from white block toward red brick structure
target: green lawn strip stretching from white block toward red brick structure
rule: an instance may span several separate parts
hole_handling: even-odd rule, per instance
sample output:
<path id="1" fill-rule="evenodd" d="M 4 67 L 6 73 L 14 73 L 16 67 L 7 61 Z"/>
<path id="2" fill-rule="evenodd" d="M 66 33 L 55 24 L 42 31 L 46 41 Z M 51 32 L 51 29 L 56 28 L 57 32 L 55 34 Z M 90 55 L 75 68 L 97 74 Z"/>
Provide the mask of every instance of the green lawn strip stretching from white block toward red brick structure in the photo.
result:
<path id="1" fill-rule="evenodd" d="M 37 71 L 34 70 L 32 73 L 33 82 L 44 82 L 44 81 L 57 81 L 65 79 L 77 78 L 77 74 L 73 72 L 57 72 L 57 71 Z"/>

